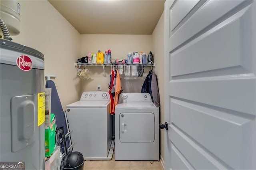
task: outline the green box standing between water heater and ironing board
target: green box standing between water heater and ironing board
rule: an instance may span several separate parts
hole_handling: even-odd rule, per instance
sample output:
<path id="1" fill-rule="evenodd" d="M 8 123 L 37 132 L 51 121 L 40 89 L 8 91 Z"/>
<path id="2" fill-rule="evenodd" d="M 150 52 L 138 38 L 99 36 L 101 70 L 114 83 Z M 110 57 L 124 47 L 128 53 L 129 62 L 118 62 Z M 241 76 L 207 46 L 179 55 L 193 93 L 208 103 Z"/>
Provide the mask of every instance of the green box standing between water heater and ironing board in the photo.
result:
<path id="1" fill-rule="evenodd" d="M 50 127 L 45 127 L 45 157 L 51 156 L 55 148 L 55 121 L 53 113 L 51 113 L 50 119 Z"/>

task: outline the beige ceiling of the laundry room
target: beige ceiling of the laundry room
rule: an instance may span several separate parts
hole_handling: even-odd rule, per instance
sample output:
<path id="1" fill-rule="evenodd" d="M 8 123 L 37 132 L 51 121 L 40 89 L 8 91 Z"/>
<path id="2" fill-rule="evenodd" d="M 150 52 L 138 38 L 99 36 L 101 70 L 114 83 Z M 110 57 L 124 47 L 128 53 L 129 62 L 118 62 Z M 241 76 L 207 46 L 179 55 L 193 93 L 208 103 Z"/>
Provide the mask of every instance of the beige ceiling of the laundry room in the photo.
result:
<path id="1" fill-rule="evenodd" d="M 152 34 L 165 0 L 48 0 L 80 34 Z"/>

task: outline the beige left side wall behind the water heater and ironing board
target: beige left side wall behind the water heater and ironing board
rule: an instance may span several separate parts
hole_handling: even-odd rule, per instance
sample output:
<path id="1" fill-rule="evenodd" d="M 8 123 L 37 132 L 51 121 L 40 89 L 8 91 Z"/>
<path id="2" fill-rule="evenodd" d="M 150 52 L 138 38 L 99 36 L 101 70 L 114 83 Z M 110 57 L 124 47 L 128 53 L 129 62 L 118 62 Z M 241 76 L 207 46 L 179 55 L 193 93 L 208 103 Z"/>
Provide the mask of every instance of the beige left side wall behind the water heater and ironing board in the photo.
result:
<path id="1" fill-rule="evenodd" d="M 80 56 L 80 34 L 47 0 L 21 0 L 21 27 L 14 42 L 44 54 L 45 74 L 54 79 L 63 109 L 80 98 L 74 61 Z"/>

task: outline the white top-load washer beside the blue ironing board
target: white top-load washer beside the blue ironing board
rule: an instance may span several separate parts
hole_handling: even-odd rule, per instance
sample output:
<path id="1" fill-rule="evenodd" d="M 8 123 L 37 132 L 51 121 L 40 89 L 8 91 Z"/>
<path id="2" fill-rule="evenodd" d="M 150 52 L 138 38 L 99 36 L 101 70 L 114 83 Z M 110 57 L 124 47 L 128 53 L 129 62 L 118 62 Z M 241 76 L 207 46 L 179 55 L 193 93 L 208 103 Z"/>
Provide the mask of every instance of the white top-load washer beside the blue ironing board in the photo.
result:
<path id="1" fill-rule="evenodd" d="M 66 106 L 74 151 L 85 160 L 109 160 L 114 150 L 108 92 L 84 92 L 80 101 Z"/>

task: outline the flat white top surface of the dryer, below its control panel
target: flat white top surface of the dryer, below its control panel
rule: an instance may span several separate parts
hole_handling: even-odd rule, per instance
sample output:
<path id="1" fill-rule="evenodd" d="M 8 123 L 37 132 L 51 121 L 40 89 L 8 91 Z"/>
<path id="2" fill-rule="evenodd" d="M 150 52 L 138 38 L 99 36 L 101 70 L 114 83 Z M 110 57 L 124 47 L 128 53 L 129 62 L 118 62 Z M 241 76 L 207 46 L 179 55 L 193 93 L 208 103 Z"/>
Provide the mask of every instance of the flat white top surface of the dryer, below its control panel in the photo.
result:
<path id="1" fill-rule="evenodd" d="M 158 109 L 152 102 L 118 103 L 116 109 Z"/>

